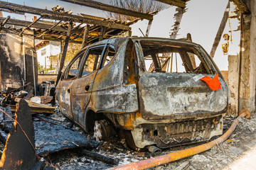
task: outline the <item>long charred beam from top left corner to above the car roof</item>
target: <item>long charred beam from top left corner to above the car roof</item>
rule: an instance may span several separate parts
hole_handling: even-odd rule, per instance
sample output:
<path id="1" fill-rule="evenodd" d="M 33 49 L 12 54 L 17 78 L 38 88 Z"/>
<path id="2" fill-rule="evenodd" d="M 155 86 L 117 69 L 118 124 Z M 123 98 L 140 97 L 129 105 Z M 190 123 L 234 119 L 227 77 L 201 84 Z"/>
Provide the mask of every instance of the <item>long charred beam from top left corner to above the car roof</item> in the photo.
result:
<path id="1" fill-rule="evenodd" d="M 109 28 L 117 28 L 122 30 L 131 30 L 129 26 L 122 23 L 114 23 L 110 21 L 102 21 L 93 18 L 85 18 L 82 16 L 70 15 L 68 13 L 59 13 L 54 11 L 49 11 L 47 9 L 34 8 L 31 6 L 23 6 L 18 4 L 9 3 L 6 1 L 0 1 L 0 8 L 6 8 L 12 11 L 20 11 L 25 13 L 32 13 L 36 15 L 41 15 L 43 18 L 61 20 L 61 21 L 72 21 L 76 23 L 88 23 L 97 26 L 105 26 Z"/>

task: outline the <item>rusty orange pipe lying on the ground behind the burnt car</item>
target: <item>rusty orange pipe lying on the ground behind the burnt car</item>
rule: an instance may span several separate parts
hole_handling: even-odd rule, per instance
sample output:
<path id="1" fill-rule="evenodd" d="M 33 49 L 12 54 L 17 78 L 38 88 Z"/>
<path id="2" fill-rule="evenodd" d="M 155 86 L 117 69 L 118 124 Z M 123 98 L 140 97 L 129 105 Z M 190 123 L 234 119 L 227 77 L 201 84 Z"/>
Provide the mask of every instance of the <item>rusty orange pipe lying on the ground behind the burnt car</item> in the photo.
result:
<path id="1" fill-rule="evenodd" d="M 158 165 L 161 165 L 161 164 L 174 162 L 178 159 L 183 159 L 183 158 L 186 158 L 186 157 L 190 157 L 194 154 L 199 154 L 201 152 L 205 152 L 208 149 L 211 149 L 212 147 L 214 147 L 215 145 L 218 145 L 218 144 L 224 142 L 225 140 L 227 140 L 228 137 L 230 137 L 232 132 L 235 130 L 236 126 L 238 125 L 239 118 L 244 118 L 244 117 L 245 118 L 250 118 L 250 112 L 247 111 L 246 109 L 242 109 L 240 111 L 238 118 L 235 119 L 235 121 L 230 126 L 230 128 L 228 129 L 227 132 L 225 132 L 218 139 L 213 140 L 211 142 L 208 142 L 206 144 L 199 145 L 197 147 L 191 147 L 191 148 L 184 149 L 184 150 L 181 150 L 181 151 L 178 151 L 178 152 L 173 152 L 173 153 L 170 153 L 170 154 L 164 154 L 164 155 L 161 155 L 159 157 L 154 157 L 154 158 L 151 158 L 151 159 L 144 159 L 144 160 L 139 161 L 139 162 L 132 162 L 130 164 L 124 164 L 122 166 L 116 166 L 116 167 L 113 167 L 113 168 L 110 168 L 110 169 L 107 169 L 107 170 L 113 170 L 113 169 L 115 169 L 115 170 L 117 170 L 117 169 L 120 169 L 120 170 L 121 169 L 122 170 L 124 170 L 124 169 L 127 169 L 127 170 L 128 169 L 148 169 L 148 168 L 158 166 Z"/>

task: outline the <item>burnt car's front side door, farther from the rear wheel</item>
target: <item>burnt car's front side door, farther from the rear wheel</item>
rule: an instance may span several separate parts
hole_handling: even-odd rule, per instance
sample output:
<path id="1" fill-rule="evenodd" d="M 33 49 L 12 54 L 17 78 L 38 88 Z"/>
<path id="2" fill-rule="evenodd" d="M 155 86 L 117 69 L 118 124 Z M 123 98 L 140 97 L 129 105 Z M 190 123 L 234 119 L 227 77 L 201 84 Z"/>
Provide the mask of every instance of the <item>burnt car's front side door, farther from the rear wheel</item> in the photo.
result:
<path id="1" fill-rule="evenodd" d="M 71 86 L 78 75 L 78 68 L 80 66 L 80 62 L 82 60 L 82 57 L 85 55 L 85 50 L 82 50 L 81 52 L 76 55 L 73 60 L 70 61 L 68 64 L 68 67 L 65 69 L 61 80 L 56 87 L 59 103 L 60 103 L 60 111 L 62 111 L 63 114 L 68 116 L 68 118 L 73 119 L 72 114 L 72 105 L 71 105 L 71 98 L 70 94 L 72 94 Z"/>

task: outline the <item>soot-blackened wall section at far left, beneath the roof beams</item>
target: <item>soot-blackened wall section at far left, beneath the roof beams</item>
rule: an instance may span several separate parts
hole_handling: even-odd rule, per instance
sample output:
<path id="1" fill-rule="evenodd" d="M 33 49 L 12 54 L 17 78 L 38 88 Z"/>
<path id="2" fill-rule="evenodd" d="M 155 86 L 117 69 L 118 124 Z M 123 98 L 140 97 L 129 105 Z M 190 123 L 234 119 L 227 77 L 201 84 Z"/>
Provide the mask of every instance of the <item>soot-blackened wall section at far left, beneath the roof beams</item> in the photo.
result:
<path id="1" fill-rule="evenodd" d="M 27 33 L 27 32 L 26 32 Z M 33 32 L 32 32 L 33 33 Z M 33 36 L 20 36 L 1 30 L 0 33 L 0 90 L 18 88 L 27 84 L 24 50 L 34 47 Z M 36 64 L 37 65 L 37 64 Z M 25 67 L 24 67 L 25 66 Z M 37 79 L 37 77 L 36 77 Z M 31 82 L 33 84 L 33 82 Z"/>

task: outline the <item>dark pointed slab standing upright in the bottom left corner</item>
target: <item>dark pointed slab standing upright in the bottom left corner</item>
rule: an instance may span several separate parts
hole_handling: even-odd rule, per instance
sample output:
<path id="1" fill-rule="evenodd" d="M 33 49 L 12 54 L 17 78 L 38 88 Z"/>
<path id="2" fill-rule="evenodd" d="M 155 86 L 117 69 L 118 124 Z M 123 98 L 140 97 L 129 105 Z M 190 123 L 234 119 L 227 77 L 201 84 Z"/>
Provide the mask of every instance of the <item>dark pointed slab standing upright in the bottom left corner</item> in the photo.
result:
<path id="1" fill-rule="evenodd" d="M 0 169 L 31 169 L 36 163 L 35 130 L 31 109 L 25 100 L 18 102 L 14 118 L 15 123 L 6 140 Z"/>

